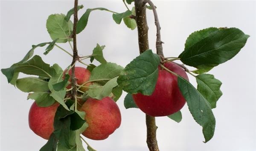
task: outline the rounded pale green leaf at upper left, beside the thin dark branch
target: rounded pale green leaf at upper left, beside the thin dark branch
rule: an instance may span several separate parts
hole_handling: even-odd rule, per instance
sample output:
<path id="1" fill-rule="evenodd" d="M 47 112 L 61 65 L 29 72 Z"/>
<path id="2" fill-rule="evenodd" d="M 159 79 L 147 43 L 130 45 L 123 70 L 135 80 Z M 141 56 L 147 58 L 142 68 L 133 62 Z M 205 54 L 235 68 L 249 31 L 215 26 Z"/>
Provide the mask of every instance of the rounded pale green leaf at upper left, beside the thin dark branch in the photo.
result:
<path id="1" fill-rule="evenodd" d="M 52 14 L 47 19 L 46 28 L 52 40 L 65 43 L 73 31 L 73 23 L 70 20 L 67 22 L 64 14 Z"/>

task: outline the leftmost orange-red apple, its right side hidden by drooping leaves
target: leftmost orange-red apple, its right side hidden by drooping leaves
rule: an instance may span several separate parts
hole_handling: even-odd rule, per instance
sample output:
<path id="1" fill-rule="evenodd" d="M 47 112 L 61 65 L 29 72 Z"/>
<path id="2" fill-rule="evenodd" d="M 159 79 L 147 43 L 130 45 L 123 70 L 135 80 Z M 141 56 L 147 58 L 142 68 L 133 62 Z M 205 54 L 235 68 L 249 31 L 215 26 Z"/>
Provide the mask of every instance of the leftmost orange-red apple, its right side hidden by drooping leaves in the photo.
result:
<path id="1" fill-rule="evenodd" d="M 39 107 L 34 102 L 29 110 L 29 127 L 35 134 L 49 140 L 54 131 L 53 122 L 55 112 L 59 103 L 54 103 L 48 107 Z"/>

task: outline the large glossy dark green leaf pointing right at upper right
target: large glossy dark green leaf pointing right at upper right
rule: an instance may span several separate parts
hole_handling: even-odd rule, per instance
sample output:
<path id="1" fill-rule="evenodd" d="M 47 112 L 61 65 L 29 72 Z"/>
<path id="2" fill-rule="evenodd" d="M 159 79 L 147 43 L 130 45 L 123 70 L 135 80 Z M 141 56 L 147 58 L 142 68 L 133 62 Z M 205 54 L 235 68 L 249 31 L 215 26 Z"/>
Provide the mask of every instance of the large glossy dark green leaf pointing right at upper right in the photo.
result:
<path id="1" fill-rule="evenodd" d="M 238 28 L 207 28 L 196 31 L 186 40 L 180 61 L 198 69 L 215 67 L 236 56 L 249 35 Z"/>

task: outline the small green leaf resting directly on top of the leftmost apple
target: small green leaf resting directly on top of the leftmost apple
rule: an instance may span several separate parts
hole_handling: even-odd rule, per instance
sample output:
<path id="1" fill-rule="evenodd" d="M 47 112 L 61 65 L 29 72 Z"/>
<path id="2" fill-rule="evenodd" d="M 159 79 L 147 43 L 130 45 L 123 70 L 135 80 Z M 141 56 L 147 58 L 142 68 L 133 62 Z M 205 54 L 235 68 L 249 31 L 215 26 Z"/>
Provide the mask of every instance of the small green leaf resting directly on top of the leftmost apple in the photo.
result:
<path id="1" fill-rule="evenodd" d="M 35 103 L 41 107 L 51 106 L 55 99 L 50 96 L 50 92 L 34 92 L 28 95 L 27 99 L 35 100 Z"/>

